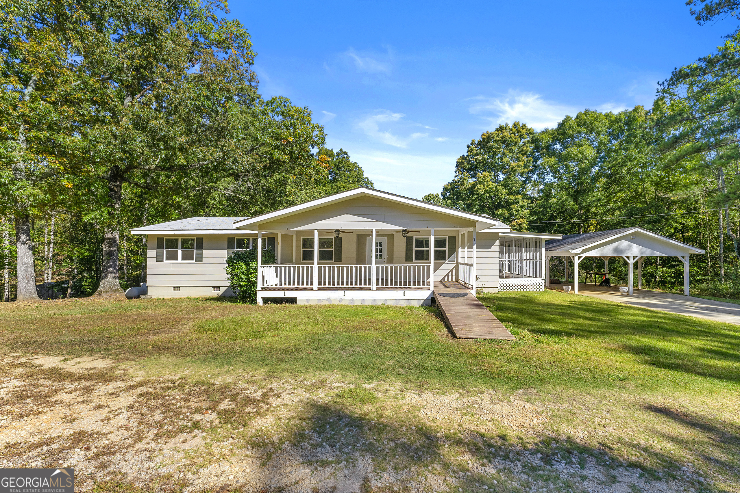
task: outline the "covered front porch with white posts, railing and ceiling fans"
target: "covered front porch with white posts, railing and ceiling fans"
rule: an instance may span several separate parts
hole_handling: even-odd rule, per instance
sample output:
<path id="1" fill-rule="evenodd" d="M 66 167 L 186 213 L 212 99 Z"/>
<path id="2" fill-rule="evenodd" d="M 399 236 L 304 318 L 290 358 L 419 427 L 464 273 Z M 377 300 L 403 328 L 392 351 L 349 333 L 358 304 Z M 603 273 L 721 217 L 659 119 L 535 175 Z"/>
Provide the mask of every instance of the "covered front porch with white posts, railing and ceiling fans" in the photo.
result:
<path id="1" fill-rule="evenodd" d="M 277 235 L 276 262 L 259 262 L 258 290 L 430 291 L 435 279 L 474 290 L 475 230 L 278 231 L 271 233 Z M 262 236 L 258 232 L 255 242 L 260 260 Z M 286 250 L 289 255 L 283 255 Z"/>

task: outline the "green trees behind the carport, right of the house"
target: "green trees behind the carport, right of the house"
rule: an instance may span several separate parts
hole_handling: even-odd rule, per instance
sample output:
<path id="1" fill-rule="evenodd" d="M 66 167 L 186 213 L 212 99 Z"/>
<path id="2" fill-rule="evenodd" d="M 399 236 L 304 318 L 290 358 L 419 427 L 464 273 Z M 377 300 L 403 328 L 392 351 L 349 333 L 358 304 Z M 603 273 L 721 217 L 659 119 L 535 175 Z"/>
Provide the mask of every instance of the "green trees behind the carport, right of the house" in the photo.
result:
<path id="1" fill-rule="evenodd" d="M 699 24 L 740 1 L 689 0 Z M 628 226 L 704 248 L 692 288 L 740 297 L 740 30 L 659 84 L 650 108 L 585 109 L 536 132 L 505 123 L 468 144 L 454 179 L 423 200 L 489 214 L 512 229 L 575 234 Z M 614 259 L 610 272 L 624 279 Z M 602 267 L 602 266 L 601 266 Z M 599 268 L 599 265 L 594 265 Z M 678 259 L 647 259 L 647 285 L 682 285 Z"/>

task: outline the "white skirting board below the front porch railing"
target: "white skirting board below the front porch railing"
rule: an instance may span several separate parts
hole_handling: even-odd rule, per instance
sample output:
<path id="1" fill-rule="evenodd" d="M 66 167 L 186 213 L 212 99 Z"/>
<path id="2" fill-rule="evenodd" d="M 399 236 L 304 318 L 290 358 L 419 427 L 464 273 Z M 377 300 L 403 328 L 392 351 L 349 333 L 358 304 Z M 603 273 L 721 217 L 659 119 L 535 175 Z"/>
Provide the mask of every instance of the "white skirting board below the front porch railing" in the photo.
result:
<path id="1" fill-rule="evenodd" d="M 260 290 L 258 304 L 295 298 L 298 305 L 431 305 L 431 290 Z"/>

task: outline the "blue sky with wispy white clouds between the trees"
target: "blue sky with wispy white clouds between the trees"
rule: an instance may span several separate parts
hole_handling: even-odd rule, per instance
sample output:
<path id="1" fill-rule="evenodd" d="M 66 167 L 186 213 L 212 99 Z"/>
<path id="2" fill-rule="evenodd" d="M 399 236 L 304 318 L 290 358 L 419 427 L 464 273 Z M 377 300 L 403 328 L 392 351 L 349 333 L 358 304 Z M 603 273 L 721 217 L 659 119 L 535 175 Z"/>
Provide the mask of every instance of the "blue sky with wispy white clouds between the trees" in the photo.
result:
<path id="1" fill-rule="evenodd" d="M 657 81 L 707 55 L 734 19 L 683 0 L 240 1 L 265 97 L 309 106 L 375 187 L 420 198 L 499 123 L 542 129 L 585 108 L 650 106 Z"/>

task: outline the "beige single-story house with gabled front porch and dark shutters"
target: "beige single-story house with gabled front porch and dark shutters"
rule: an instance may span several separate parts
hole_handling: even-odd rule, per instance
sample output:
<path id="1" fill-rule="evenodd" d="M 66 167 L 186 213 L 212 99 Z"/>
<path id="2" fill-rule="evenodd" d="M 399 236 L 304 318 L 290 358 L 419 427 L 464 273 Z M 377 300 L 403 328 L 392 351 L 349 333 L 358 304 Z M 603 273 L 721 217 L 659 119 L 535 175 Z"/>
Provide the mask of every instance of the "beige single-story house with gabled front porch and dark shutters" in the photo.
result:
<path id="1" fill-rule="evenodd" d="M 482 214 L 354 188 L 255 217 L 192 217 L 131 230 L 147 236 L 150 296 L 230 296 L 225 259 L 271 249 L 258 302 L 428 305 L 435 282 L 545 289 L 545 240 Z M 261 259 L 261 255 L 258 255 Z"/>

